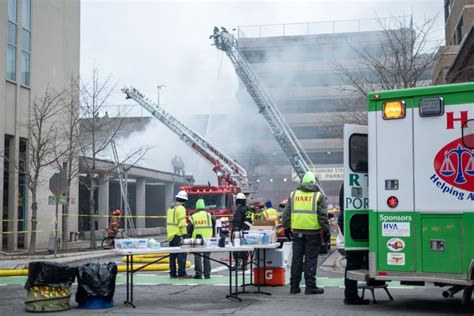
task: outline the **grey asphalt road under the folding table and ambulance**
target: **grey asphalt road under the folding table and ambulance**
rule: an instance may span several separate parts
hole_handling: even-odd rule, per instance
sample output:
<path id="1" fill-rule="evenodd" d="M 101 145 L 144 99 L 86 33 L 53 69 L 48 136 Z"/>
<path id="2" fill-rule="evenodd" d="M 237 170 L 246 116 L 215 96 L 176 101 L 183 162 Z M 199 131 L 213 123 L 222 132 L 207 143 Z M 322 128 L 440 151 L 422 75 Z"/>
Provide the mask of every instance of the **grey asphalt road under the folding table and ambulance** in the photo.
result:
<path id="1" fill-rule="evenodd" d="M 102 259 L 120 261 L 121 258 Z M 192 258 L 189 258 L 192 260 Z M 328 260 L 329 261 L 329 260 Z M 156 314 L 238 314 L 238 315 L 474 315 L 474 304 L 463 306 L 461 299 L 444 299 L 441 289 L 434 287 L 401 287 L 390 285 L 395 298 L 389 301 L 383 291 L 376 291 L 377 304 L 346 306 L 342 303 L 343 280 L 333 264 L 324 266 L 324 257 L 318 270 L 318 284 L 324 286 L 323 295 L 290 295 L 289 286 L 265 290 L 272 296 L 246 294 L 242 302 L 225 298 L 227 272 L 213 265 L 211 280 L 169 280 L 167 272 L 140 273 L 134 291 L 136 309 L 125 306 L 123 275 L 117 278 L 115 306 L 105 310 L 81 310 L 71 298 L 68 314 L 156 315 Z M 192 269 L 188 271 L 192 273 Z M 0 279 L 0 315 L 21 315 L 25 278 Z M 160 285 L 157 285 L 159 283 Z M 186 284 L 186 285 L 183 285 Z M 75 285 L 72 293 L 75 293 Z"/>

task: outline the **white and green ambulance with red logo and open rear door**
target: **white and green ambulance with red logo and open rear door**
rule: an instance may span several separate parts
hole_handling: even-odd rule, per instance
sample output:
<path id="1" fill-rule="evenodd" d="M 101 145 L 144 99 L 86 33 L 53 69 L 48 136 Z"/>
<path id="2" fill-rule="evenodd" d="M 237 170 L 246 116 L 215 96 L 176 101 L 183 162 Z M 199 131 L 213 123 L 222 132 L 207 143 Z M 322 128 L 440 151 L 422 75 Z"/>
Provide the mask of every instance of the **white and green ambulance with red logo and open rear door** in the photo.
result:
<path id="1" fill-rule="evenodd" d="M 354 280 L 474 286 L 474 83 L 373 92 L 368 126 L 344 127 L 346 251 Z"/>

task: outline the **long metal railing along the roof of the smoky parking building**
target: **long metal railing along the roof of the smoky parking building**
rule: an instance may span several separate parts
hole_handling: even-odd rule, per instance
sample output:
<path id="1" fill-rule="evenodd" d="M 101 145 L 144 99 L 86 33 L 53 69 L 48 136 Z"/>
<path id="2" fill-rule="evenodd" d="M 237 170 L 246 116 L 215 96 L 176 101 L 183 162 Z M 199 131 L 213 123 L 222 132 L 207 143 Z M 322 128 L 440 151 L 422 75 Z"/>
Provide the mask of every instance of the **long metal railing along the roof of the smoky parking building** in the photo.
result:
<path id="1" fill-rule="evenodd" d="M 411 21 L 411 15 L 403 15 L 356 20 L 243 25 L 238 26 L 237 36 L 238 38 L 259 38 L 381 31 L 383 28 L 399 28 L 400 25 L 409 26 Z"/>

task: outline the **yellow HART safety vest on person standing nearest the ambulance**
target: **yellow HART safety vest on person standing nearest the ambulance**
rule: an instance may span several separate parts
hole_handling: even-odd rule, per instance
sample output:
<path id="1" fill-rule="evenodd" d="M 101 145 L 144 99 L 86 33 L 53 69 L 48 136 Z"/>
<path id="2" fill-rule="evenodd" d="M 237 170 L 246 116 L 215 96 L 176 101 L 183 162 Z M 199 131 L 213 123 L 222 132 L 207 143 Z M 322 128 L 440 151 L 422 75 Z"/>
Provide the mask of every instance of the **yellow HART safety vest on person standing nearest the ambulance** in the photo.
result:
<path id="1" fill-rule="evenodd" d="M 291 193 L 291 228 L 301 230 L 320 229 L 318 201 L 321 192 L 296 190 Z"/>

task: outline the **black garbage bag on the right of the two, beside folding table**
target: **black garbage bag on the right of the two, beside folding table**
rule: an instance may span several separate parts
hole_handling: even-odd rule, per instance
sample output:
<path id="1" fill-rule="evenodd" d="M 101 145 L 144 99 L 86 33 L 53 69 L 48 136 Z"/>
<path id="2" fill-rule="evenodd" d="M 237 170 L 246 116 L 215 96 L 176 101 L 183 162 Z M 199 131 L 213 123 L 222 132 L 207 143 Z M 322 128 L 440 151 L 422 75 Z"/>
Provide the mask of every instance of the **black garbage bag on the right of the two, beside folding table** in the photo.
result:
<path id="1" fill-rule="evenodd" d="M 77 269 L 76 302 L 87 303 L 91 297 L 104 298 L 112 302 L 115 293 L 117 265 L 109 263 L 86 263 Z"/>

